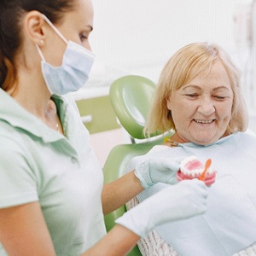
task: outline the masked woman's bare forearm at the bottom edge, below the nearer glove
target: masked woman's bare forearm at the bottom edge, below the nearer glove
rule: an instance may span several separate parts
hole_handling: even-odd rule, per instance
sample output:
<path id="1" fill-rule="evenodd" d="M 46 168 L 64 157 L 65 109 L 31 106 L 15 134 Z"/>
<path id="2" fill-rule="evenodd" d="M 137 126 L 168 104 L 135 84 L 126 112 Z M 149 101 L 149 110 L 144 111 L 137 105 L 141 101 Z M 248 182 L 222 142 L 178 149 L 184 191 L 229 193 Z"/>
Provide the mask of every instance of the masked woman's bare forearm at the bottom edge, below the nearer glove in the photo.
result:
<path id="1" fill-rule="evenodd" d="M 112 230 L 98 241 L 94 247 L 81 256 L 122 256 L 126 255 L 137 244 L 140 236 L 122 225 L 115 225 Z"/>

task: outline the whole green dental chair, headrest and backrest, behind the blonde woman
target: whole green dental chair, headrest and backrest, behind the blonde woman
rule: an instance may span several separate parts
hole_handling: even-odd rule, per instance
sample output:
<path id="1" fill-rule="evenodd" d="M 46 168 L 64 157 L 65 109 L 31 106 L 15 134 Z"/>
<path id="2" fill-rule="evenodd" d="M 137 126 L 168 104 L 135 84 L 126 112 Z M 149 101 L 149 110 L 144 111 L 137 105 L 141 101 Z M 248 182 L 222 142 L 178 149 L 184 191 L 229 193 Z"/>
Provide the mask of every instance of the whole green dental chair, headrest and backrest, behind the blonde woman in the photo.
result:
<path id="1" fill-rule="evenodd" d="M 154 89 L 155 85 L 151 80 L 135 75 L 121 77 L 111 84 L 109 96 L 113 110 L 120 124 L 130 134 L 131 143 L 117 145 L 108 154 L 108 159 L 103 166 L 105 183 L 110 183 L 124 175 L 125 168 L 132 157 L 146 154 L 154 145 L 164 142 L 163 136 L 150 139 L 143 137 L 143 128 Z M 135 143 L 136 139 L 139 143 Z M 105 216 L 107 231 L 113 228 L 115 219 L 125 212 L 126 208 L 122 206 Z M 134 247 L 128 255 L 142 254 L 138 247 Z"/>

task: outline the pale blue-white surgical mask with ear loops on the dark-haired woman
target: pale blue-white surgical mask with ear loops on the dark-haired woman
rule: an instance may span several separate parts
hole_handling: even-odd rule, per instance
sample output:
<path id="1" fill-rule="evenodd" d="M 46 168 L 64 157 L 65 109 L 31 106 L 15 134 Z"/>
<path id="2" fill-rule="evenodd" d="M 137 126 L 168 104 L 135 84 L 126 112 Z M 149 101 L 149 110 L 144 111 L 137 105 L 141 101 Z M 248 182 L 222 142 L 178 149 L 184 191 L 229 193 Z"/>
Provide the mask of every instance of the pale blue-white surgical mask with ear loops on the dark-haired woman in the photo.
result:
<path id="1" fill-rule="evenodd" d="M 67 44 L 60 67 L 53 67 L 47 63 L 41 49 L 36 44 L 38 53 L 42 58 L 42 73 L 49 92 L 51 95 L 63 95 L 79 90 L 89 78 L 95 55 L 83 46 L 67 41 L 45 15 L 43 18 Z"/>

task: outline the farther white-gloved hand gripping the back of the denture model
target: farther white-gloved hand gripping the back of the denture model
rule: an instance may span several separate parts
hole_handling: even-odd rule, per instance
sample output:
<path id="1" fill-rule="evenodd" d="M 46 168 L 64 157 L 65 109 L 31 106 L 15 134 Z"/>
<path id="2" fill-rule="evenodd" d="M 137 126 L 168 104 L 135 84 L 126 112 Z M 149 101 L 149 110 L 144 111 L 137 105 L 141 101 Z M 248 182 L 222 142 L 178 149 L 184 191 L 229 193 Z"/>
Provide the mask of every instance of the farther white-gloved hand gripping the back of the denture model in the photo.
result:
<path id="1" fill-rule="evenodd" d="M 177 183 L 176 174 L 181 160 L 183 159 L 152 158 L 137 164 L 134 173 L 144 189 L 150 188 L 155 183 L 174 184 Z"/>

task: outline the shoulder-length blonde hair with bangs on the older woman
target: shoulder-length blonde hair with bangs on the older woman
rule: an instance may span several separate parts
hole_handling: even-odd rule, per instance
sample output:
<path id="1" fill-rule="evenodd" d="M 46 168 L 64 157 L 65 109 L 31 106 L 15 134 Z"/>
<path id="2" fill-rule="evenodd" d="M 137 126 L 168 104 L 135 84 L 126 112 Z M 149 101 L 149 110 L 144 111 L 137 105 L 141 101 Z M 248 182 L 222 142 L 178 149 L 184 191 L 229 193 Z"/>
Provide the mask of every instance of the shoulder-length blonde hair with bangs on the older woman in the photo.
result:
<path id="1" fill-rule="evenodd" d="M 146 136 L 155 132 L 175 131 L 172 113 L 167 108 L 166 99 L 172 96 L 189 80 L 194 79 L 203 70 L 212 67 L 214 61 L 221 61 L 229 78 L 234 94 L 231 119 L 227 127 L 229 133 L 247 129 L 247 108 L 241 94 L 241 73 L 231 61 L 230 56 L 217 44 L 195 43 L 179 49 L 166 63 L 160 73 L 160 79 L 154 92 L 154 98 L 144 128 Z"/>

